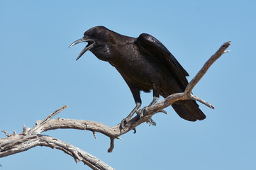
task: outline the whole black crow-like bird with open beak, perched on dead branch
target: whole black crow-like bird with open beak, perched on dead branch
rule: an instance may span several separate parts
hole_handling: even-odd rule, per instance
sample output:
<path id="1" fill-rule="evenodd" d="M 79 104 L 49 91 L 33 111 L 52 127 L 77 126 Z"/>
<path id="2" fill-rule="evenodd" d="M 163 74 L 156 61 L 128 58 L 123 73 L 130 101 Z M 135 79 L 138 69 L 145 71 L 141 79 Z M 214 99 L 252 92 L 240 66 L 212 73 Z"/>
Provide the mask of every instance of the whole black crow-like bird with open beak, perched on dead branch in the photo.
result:
<path id="1" fill-rule="evenodd" d="M 134 113 L 141 114 L 140 91 L 153 91 L 153 100 L 149 106 L 157 103 L 159 96 L 184 92 L 189 74 L 159 40 L 148 34 L 132 38 L 96 26 L 87 30 L 84 37 L 70 45 L 88 42 L 80 52 L 77 60 L 90 50 L 99 60 L 109 62 L 121 74 L 133 94 L 136 106 L 123 119 L 121 126 L 128 123 Z M 172 104 L 174 111 L 181 118 L 189 121 L 203 120 L 206 115 L 199 109 L 196 101 L 176 101 Z"/>

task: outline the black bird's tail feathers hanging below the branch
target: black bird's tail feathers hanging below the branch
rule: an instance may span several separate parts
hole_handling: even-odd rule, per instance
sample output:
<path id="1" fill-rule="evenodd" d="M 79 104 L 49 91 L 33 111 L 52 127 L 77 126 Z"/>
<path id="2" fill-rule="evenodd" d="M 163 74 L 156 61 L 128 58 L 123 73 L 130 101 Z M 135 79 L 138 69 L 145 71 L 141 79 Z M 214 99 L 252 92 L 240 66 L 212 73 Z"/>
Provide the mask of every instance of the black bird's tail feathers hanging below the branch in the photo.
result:
<path id="1" fill-rule="evenodd" d="M 204 120 L 206 115 L 200 110 L 196 101 L 176 101 L 172 104 L 174 111 L 178 113 L 181 118 L 189 121 Z"/>

